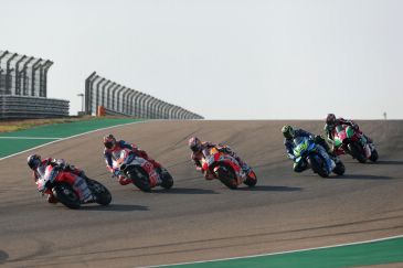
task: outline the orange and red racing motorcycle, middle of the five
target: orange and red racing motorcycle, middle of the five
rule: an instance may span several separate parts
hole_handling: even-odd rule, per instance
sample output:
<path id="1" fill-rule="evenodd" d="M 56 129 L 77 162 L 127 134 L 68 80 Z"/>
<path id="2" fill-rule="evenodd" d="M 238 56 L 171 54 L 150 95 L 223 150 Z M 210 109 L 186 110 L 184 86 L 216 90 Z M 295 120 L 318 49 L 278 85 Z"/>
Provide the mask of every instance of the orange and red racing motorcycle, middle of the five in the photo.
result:
<path id="1" fill-rule="evenodd" d="M 257 178 L 252 169 L 246 174 L 235 158 L 216 148 L 210 149 L 210 156 L 202 158 L 201 163 L 203 172 L 208 172 L 211 179 L 219 179 L 229 189 L 237 189 L 242 183 L 250 187 L 256 185 Z"/>

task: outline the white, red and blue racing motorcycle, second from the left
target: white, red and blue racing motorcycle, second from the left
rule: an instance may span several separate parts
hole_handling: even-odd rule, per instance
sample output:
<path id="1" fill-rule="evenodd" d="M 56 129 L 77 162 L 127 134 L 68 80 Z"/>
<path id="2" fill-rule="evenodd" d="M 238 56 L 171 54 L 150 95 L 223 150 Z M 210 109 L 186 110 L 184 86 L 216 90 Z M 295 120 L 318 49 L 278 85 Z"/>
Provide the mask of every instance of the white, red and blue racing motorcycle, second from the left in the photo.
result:
<path id="1" fill-rule="evenodd" d="M 142 192 L 150 192 L 158 185 L 172 187 L 173 178 L 167 169 L 156 169 L 151 162 L 130 152 L 128 149 L 121 150 L 119 159 L 114 161 L 114 168 L 120 169 L 121 175 L 130 179 Z"/>

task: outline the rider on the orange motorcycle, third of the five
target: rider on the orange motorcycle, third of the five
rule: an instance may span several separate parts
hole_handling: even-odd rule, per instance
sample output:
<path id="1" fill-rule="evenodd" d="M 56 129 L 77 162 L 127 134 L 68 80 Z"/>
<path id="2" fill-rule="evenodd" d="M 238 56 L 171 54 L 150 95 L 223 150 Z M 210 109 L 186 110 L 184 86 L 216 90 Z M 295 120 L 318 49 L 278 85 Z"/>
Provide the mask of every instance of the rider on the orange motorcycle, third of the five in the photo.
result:
<path id="1" fill-rule="evenodd" d="M 244 161 L 242 161 L 242 159 L 238 156 L 236 156 L 236 153 L 232 151 L 232 149 L 229 146 L 214 144 L 210 141 L 202 142 L 198 137 L 192 137 L 189 139 L 189 148 L 190 150 L 192 150 L 191 159 L 194 165 L 197 167 L 195 169 L 198 171 L 202 171 L 201 160 L 210 156 L 210 149 L 216 148 L 219 151 L 229 153 L 231 157 L 233 157 L 240 163 L 242 170 L 246 174 L 252 172 L 251 168 Z M 212 179 L 209 172 L 205 172 L 204 178 L 206 180 Z"/>

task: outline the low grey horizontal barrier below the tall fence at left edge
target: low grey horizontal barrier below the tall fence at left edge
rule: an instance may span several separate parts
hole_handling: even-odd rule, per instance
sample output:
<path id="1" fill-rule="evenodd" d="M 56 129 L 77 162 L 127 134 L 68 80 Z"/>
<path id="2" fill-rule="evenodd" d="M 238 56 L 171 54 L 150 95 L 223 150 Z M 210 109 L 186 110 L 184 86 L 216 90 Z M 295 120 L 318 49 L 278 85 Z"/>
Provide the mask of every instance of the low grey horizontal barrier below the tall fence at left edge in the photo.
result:
<path id="1" fill-rule="evenodd" d="M 0 119 L 68 116 L 68 100 L 0 95 Z"/>

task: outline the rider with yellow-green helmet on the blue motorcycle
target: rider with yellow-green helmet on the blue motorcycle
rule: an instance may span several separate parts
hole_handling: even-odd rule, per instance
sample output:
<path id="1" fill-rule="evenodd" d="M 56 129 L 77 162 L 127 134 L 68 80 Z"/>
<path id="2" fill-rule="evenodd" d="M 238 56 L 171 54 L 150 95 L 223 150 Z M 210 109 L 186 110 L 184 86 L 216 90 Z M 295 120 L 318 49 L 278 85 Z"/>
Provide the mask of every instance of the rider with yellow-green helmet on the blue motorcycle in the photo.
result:
<path id="1" fill-rule="evenodd" d="M 315 143 L 319 148 L 319 153 L 326 159 L 327 165 L 329 170 L 333 170 L 336 167 L 336 163 L 340 161 L 340 159 L 330 150 L 329 146 L 325 141 L 325 139 L 320 136 L 315 136 L 314 133 L 310 133 L 304 129 L 294 129 L 291 126 L 284 126 L 282 128 L 282 132 L 284 136 L 284 146 L 286 147 L 288 158 L 293 161 L 295 160 L 294 156 L 294 139 L 298 137 L 306 137 L 315 141 Z M 327 152 L 327 153 L 325 153 Z M 332 161 L 333 160 L 333 161 Z M 305 170 L 305 167 L 301 167 L 303 162 L 294 163 L 294 171 L 295 172 L 303 172 Z"/>

